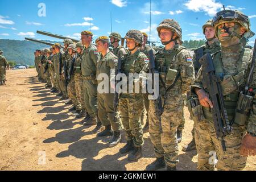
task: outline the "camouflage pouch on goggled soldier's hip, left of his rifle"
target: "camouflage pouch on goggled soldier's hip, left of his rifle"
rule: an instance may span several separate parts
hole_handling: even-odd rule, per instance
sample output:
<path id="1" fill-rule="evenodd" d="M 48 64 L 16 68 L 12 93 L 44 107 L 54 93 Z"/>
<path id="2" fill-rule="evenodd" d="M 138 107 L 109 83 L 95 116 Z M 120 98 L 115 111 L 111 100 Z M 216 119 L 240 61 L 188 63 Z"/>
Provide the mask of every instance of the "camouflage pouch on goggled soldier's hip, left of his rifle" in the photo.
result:
<path id="1" fill-rule="evenodd" d="M 197 97 L 192 97 L 187 101 L 188 111 L 193 121 L 201 122 L 205 120 L 203 107 L 200 105 Z"/>

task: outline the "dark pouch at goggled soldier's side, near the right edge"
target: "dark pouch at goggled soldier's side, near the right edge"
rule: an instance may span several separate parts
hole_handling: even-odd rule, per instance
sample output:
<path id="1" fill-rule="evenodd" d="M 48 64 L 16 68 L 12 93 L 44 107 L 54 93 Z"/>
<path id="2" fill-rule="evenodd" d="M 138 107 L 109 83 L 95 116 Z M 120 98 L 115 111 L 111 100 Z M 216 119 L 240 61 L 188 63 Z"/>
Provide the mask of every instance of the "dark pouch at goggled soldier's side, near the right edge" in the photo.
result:
<path id="1" fill-rule="evenodd" d="M 241 92 L 238 97 L 234 123 L 236 123 L 237 125 L 245 125 L 245 122 L 249 117 L 252 106 L 253 96 L 248 96 Z"/>

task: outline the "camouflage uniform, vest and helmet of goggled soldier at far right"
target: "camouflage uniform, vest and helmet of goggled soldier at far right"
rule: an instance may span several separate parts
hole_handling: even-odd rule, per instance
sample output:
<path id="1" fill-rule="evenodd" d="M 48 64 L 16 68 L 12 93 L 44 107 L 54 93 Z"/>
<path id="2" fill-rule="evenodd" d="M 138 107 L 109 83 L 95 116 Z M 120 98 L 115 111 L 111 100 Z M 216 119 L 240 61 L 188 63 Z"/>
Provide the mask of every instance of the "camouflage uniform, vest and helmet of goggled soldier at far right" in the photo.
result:
<path id="1" fill-rule="evenodd" d="M 232 10 L 224 10 L 219 13 L 236 12 L 238 18 L 231 19 L 225 22 L 234 22 L 236 26 L 242 26 L 246 28 L 246 31 L 250 31 L 250 23 L 247 18 L 247 22 L 240 20 L 242 13 Z M 229 13 L 232 14 L 232 13 Z M 244 15 L 243 15 L 244 16 Z M 216 16 L 214 17 L 216 18 Z M 218 25 L 224 20 L 222 18 L 213 22 L 215 28 L 215 35 L 218 37 Z M 232 29 L 232 28 L 229 28 Z M 228 29 L 228 30 L 229 30 Z M 235 28 L 233 28 L 235 30 Z M 230 32 L 231 34 L 231 32 Z M 234 35 L 234 34 L 233 34 Z M 235 34 L 237 36 L 238 34 Z M 240 38 L 239 36 L 237 36 Z M 252 60 L 252 51 L 250 48 L 245 48 L 242 43 L 239 43 L 230 47 L 221 47 L 221 52 L 213 55 L 214 68 L 216 69 L 216 75 L 221 79 L 220 84 L 224 96 L 224 105 L 227 109 L 229 121 L 234 119 L 236 113 L 236 106 L 238 96 L 241 90 L 245 86 L 250 63 Z M 192 92 L 195 88 L 203 88 L 202 80 L 202 67 L 197 74 L 195 85 L 191 87 Z M 254 92 L 256 91 L 256 69 L 254 69 L 253 81 L 250 85 Z M 229 79 L 233 77 L 233 80 Z M 207 92 L 207 89 L 204 89 Z M 226 151 L 222 150 L 221 141 L 216 138 L 216 132 L 214 130 L 212 111 L 201 105 L 193 107 L 193 120 L 195 121 L 195 139 L 196 148 L 199 154 L 197 168 L 200 170 L 214 170 L 214 166 L 209 164 L 209 152 L 216 151 L 218 157 L 217 169 L 218 170 L 241 170 L 246 166 L 246 157 L 240 155 L 241 141 L 246 133 L 256 134 L 256 97 L 253 98 L 253 107 L 251 113 L 247 117 L 245 123 L 233 123 L 232 132 L 224 138 L 226 144 Z M 201 114 L 199 114 L 201 113 Z M 242 121 L 240 121 L 242 122 Z"/>

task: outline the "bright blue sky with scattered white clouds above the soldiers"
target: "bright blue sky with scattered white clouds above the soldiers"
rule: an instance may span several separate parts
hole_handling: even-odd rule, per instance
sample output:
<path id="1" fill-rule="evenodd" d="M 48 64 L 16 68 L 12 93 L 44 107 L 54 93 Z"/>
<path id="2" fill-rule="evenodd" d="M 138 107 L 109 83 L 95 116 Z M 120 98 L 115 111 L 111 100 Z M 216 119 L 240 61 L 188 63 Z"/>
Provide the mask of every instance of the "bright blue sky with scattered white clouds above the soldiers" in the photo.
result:
<path id="1" fill-rule="evenodd" d="M 91 28 L 95 38 L 109 35 L 110 11 L 112 12 L 113 31 L 122 36 L 130 29 L 145 31 L 149 34 L 150 1 L 146 0 L 1 0 L 0 1 L 0 39 L 23 40 L 25 36 L 59 40 L 36 34 L 36 30 L 79 39 L 80 32 Z M 46 6 L 46 16 L 38 12 Z M 201 26 L 222 9 L 241 10 L 250 16 L 251 30 L 256 32 L 256 1 L 226 0 L 152 0 L 151 41 L 159 41 L 156 27 L 166 18 L 180 23 L 183 40 L 203 39 Z M 40 11 L 42 13 L 42 11 Z M 255 37 L 250 40 L 253 45 Z"/>

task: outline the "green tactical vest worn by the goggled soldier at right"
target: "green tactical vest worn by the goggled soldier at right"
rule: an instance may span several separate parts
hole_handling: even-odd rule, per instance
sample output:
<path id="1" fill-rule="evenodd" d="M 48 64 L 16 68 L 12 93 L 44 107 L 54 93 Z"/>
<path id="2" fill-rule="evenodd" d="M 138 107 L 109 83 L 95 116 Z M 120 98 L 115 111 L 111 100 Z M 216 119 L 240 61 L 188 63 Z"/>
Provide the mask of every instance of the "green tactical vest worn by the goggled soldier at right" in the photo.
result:
<path id="1" fill-rule="evenodd" d="M 224 71 L 221 52 L 213 54 L 214 68 L 216 70 L 216 75 L 219 78 L 222 87 L 224 105 L 228 113 L 229 121 L 232 121 L 234 119 L 238 96 L 245 87 L 245 81 L 247 77 L 246 70 L 249 66 L 249 58 L 251 52 L 252 49 L 250 48 L 242 48 L 240 58 L 238 59 L 236 69 L 234 70 L 235 72 L 228 74 L 226 74 Z M 207 107 L 203 107 L 203 111 L 205 119 L 209 119 L 210 121 L 212 121 L 211 110 Z"/>

